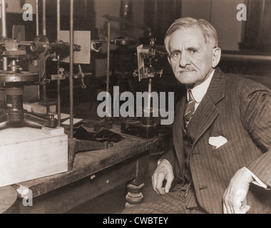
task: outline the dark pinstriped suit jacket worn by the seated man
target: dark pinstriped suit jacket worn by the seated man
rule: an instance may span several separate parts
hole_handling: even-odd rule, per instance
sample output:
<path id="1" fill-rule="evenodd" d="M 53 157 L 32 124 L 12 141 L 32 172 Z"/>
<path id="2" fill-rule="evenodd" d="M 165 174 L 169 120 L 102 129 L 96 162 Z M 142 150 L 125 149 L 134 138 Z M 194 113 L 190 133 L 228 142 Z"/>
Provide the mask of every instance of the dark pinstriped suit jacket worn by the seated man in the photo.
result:
<path id="1" fill-rule="evenodd" d="M 183 115 L 185 97 L 177 104 L 173 124 L 175 150 L 164 156 L 183 180 Z M 190 170 L 198 202 L 207 212 L 223 213 L 223 194 L 241 167 L 271 185 L 271 91 L 262 84 L 215 70 L 207 93 L 195 111 L 190 128 Z M 225 145 L 214 149 L 210 137 L 222 135 Z M 247 204 L 250 213 L 270 209 L 271 191 L 250 184 Z M 269 201 L 268 201 L 269 199 Z"/>

